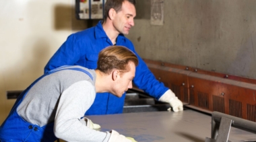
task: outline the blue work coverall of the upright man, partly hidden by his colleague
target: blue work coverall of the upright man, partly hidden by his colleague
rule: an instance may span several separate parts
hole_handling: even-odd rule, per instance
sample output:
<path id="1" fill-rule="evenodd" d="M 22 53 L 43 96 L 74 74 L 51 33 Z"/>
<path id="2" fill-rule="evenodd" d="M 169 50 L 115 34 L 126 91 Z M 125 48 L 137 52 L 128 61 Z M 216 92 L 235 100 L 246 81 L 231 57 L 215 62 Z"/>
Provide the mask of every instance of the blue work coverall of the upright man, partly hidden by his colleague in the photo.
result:
<path id="1" fill-rule="evenodd" d="M 102 21 L 100 21 L 95 27 L 71 34 L 44 67 L 44 72 L 63 65 L 80 65 L 88 69 L 96 69 L 98 53 L 103 48 L 112 45 L 113 43 L 102 28 Z M 133 43 L 123 34 L 117 36 L 116 45 L 125 46 L 135 52 Z M 139 65 L 136 67 L 133 83 L 158 100 L 168 90 L 168 87 L 154 77 L 139 55 L 137 57 Z M 86 115 L 122 113 L 124 102 L 125 95 L 117 98 L 110 93 L 96 94 L 94 104 L 86 112 Z"/>

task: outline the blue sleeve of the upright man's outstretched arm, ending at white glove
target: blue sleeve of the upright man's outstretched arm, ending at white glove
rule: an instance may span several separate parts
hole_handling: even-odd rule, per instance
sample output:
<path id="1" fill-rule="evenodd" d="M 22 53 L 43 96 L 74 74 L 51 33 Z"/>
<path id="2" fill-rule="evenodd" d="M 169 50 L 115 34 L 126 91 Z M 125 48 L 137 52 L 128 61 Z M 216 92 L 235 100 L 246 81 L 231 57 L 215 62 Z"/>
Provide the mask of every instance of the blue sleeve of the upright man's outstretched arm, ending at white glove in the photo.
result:
<path id="1" fill-rule="evenodd" d="M 135 54 L 137 55 L 137 52 L 135 52 Z M 139 55 L 137 55 L 137 57 L 139 59 L 139 65 L 136 67 L 133 83 L 135 83 L 139 89 L 158 100 L 169 88 L 165 87 L 164 83 L 156 79 Z"/>

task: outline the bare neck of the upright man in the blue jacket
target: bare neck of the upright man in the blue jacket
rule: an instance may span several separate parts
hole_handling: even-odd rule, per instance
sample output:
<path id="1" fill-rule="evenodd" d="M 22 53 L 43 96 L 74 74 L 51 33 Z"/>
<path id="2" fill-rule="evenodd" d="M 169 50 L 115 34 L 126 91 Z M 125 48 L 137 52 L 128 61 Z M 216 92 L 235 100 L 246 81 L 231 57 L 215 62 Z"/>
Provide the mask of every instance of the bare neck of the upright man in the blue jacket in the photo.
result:
<path id="1" fill-rule="evenodd" d="M 102 24 L 104 32 L 106 32 L 106 36 L 111 40 L 112 44 L 115 45 L 117 41 L 117 36 L 119 35 L 119 32 L 115 29 L 113 24 L 111 22 L 104 22 Z"/>

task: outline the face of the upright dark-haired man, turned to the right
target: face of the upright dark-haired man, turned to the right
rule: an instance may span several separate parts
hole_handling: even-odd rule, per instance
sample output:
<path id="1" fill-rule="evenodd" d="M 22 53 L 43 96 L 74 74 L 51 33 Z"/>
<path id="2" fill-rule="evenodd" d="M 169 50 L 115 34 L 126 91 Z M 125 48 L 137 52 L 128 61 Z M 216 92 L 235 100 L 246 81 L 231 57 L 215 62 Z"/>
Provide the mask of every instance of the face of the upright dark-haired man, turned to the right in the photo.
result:
<path id="1" fill-rule="evenodd" d="M 129 30 L 134 26 L 135 15 L 135 6 L 129 1 L 124 1 L 121 10 L 117 12 L 113 20 L 113 26 L 119 33 L 129 34 Z"/>

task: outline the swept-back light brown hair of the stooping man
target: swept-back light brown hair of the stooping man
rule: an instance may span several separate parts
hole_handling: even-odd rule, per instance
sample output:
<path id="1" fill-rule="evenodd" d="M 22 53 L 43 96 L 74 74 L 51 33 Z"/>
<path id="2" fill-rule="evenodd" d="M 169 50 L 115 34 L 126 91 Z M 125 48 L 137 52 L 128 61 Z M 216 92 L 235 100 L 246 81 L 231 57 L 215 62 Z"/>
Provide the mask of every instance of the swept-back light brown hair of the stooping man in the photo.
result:
<path id="1" fill-rule="evenodd" d="M 98 55 L 97 69 L 106 74 L 111 73 L 113 69 L 119 69 L 124 73 L 129 71 L 127 65 L 130 61 L 135 66 L 139 63 L 137 56 L 131 50 L 125 46 L 108 46 Z"/>

